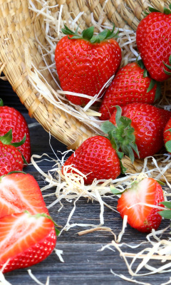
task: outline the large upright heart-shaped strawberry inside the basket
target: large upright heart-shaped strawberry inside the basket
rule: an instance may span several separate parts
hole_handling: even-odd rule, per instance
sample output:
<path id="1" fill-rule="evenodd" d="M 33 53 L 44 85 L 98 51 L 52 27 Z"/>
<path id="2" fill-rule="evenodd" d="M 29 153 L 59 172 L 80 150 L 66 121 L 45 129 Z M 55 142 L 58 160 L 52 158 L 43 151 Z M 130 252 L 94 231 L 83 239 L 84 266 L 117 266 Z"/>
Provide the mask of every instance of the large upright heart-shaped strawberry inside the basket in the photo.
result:
<path id="1" fill-rule="evenodd" d="M 113 30 L 93 35 L 94 27 L 73 32 L 67 26 L 62 29 L 68 35 L 56 45 L 55 61 L 61 88 L 66 91 L 95 96 L 120 66 L 121 49 L 113 39 Z M 71 103 L 86 105 L 90 100 L 76 95 L 66 95 Z"/>

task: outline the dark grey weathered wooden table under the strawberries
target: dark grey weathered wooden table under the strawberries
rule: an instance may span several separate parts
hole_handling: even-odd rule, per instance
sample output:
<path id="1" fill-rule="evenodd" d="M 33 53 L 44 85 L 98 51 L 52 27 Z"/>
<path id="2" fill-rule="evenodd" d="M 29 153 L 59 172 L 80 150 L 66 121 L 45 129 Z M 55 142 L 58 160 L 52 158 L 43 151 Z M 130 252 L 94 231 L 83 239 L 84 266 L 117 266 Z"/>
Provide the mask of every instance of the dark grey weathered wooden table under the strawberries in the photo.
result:
<path id="1" fill-rule="evenodd" d="M 31 125 L 35 123 L 36 120 L 29 118 L 28 110 L 21 104 L 17 95 L 13 92 L 11 86 L 8 82 L 0 82 L 1 98 L 4 100 L 4 105 L 9 105 L 17 110 L 19 110 L 27 120 L 27 123 Z M 43 152 L 46 152 L 51 157 L 55 157 L 51 147 L 49 145 L 49 135 L 43 130 L 41 125 L 32 126 L 30 128 L 31 133 L 31 150 L 32 154 L 42 155 Z M 58 142 L 55 138 L 51 138 L 51 145 L 53 150 L 61 150 L 61 152 L 66 150 L 66 146 L 61 142 Z M 61 155 L 58 154 L 60 158 Z M 49 169 L 49 162 L 43 161 L 38 164 L 43 171 Z M 33 175 L 38 181 L 38 185 L 43 187 L 46 185 L 41 174 L 33 167 L 29 165 L 25 167 L 25 172 Z M 54 192 L 54 189 L 47 190 L 43 192 L 43 195 L 48 194 L 48 192 Z M 50 204 L 55 200 L 56 197 L 46 197 L 46 204 Z M 106 198 L 105 202 L 111 204 L 111 200 Z M 116 205 L 116 200 L 113 200 L 113 205 Z M 61 225 L 65 225 L 68 219 L 68 214 L 73 209 L 73 203 L 63 200 L 64 207 L 61 212 L 58 212 L 60 204 L 49 209 L 49 212 L 53 219 Z M 75 223 L 88 223 L 88 224 L 99 224 L 99 214 L 100 207 L 98 202 L 88 202 L 87 199 L 79 199 L 76 204 L 76 212 L 73 215 L 71 222 Z M 123 222 L 118 213 L 113 212 L 112 210 L 105 208 L 105 224 L 104 226 L 110 227 L 113 229 L 115 234 L 119 234 Z M 162 221 L 160 229 L 167 227 L 170 224 L 170 221 Z M 86 229 L 86 228 L 85 228 Z M 36 264 L 31 267 L 31 271 L 36 276 L 38 281 L 46 284 L 47 276 L 50 276 L 50 285 L 125 285 L 131 284 L 129 281 L 120 279 L 118 276 L 114 276 L 110 269 L 113 269 L 115 274 L 124 274 L 130 278 L 130 274 L 125 266 L 123 258 L 120 257 L 118 251 L 111 251 L 110 249 L 105 249 L 103 252 L 98 251 L 105 244 L 110 243 L 113 240 L 113 235 L 110 232 L 93 232 L 91 234 L 86 234 L 83 236 L 78 236 L 78 232 L 83 230 L 81 227 L 73 227 L 68 232 L 63 232 L 56 244 L 56 249 L 63 250 L 63 259 L 64 263 L 58 259 L 58 256 L 53 252 L 45 261 L 42 261 L 40 264 Z M 170 234 L 168 230 L 165 234 L 165 239 L 167 239 Z M 128 227 L 125 230 L 123 235 L 122 242 L 138 244 L 145 241 L 146 235 L 142 234 L 134 229 Z M 147 247 L 147 246 L 143 246 Z M 143 248 L 142 247 L 142 248 Z M 141 248 L 141 249 L 142 249 Z M 140 249 L 127 249 L 128 252 L 139 252 Z M 137 264 L 137 262 L 136 262 Z M 160 261 L 152 261 L 151 264 L 160 264 Z M 147 272 L 146 269 L 143 269 L 141 273 Z M 36 284 L 33 279 L 28 275 L 27 269 L 19 269 L 16 271 L 11 271 L 5 274 L 6 280 L 11 284 L 16 285 L 32 285 Z M 169 280 L 170 273 L 165 274 L 155 274 L 143 277 L 136 277 L 138 281 L 147 282 L 150 284 L 158 285 L 165 283 Z"/>

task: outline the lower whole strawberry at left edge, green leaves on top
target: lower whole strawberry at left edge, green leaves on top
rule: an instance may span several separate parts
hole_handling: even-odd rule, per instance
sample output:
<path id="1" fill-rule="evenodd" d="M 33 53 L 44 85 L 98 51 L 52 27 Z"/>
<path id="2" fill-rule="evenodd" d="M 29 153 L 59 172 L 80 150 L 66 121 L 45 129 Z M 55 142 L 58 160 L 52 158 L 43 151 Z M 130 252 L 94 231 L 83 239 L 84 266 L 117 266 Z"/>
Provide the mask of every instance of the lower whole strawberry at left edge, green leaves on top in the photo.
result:
<path id="1" fill-rule="evenodd" d="M 12 130 L 0 137 L 0 176 L 11 171 L 22 171 L 24 167 L 24 156 L 16 148 L 24 143 L 26 137 L 21 142 L 12 141 Z"/>

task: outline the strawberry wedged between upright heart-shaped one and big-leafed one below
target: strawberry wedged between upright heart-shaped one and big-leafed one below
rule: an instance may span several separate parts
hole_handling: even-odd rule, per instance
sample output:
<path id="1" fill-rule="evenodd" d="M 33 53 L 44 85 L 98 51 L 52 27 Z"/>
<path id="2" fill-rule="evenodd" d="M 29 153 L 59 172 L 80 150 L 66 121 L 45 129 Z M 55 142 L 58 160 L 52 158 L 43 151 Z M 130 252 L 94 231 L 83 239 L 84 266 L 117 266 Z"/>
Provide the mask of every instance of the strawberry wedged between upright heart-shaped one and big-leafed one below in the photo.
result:
<path id="1" fill-rule="evenodd" d="M 160 86 L 147 76 L 142 61 L 128 63 L 116 73 L 105 92 L 99 110 L 100 120 L 108 120 L 115 110 L 115 105 L 152 104 L 159 96 Z"/>

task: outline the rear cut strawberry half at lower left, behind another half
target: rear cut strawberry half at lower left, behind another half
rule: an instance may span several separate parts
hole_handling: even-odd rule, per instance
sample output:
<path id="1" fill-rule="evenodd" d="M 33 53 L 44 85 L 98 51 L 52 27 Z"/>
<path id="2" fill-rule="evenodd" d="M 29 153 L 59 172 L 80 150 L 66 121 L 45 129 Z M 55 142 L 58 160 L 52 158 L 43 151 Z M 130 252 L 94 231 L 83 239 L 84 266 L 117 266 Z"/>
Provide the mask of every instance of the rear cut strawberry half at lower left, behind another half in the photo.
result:
<path id="1" fill-rule="evenodd" d="M 23 210 L 28 210 L 31 214 L 48 214 L 34 177 L 21 172 L 0 177 L 0 217 Z"/>

